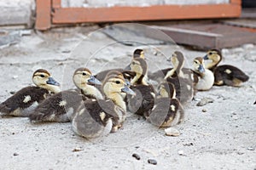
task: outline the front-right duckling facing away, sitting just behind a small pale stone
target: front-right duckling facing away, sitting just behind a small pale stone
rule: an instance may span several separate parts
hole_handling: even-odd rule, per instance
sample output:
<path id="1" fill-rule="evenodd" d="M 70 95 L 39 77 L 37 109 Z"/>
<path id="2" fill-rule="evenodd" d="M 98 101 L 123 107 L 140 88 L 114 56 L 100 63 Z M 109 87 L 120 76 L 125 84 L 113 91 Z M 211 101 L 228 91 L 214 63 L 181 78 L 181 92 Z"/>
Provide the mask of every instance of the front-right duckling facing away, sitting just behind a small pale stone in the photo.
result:
<path id="1" fill-rule="evenodd" d="M 183 121 L 184 111 L 179 100 L 175 98 L 176 92 L 171 82 L 161 82 L 159 94 L 154 101 L 154 108 L 148 116 L 148 121 L 157 127 L 172 126 L 177 115 L 177 124 Z"/>

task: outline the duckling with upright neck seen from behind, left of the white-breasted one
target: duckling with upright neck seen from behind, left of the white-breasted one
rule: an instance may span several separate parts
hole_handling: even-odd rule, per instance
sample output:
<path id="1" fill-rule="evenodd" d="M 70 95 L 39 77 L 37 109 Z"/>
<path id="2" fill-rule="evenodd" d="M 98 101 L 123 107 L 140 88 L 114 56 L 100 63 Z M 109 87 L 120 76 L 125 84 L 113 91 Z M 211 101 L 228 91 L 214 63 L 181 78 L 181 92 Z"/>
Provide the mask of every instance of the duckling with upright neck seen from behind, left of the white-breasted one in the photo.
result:
<path id="1" fill-rule="evenodd" d="M 173 68 L 156 71 L 149 78 L 157 82 L 172 82 L 176 88 L 177 99 L 185 104 L 193 98 L 193 72 L 188 68 L 183 68 L 184 56 L 181 52 L 175 51 L 169 60 L 172 61 Z"/>

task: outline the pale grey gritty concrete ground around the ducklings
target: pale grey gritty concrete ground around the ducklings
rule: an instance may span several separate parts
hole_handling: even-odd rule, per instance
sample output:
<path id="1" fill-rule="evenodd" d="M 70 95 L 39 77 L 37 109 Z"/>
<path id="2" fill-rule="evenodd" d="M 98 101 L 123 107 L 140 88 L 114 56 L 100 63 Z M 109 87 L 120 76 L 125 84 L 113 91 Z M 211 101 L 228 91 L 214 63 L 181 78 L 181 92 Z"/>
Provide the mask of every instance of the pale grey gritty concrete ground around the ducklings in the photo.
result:
<path id="1" fill-rule="evenodd" d="M 73 88 L 73 71 L 86 66 L 94 73 L 124 67 L 135 48 L 145 49 L 149 71 L 166 68 L 166 57 L 181 50 L 189 67 L 205 52 L 177 45 L 125 46 L 96 31 L 97 26 L 59 28 L 20 38 L 1 48 L 0 101 L 32 84 L 32 72 L 45 68 Z M 96 31 L 96 32 L 95 32 Z M 132 37 L 131 37 L 132 39 Z M 185 106 L 178 137 L 165 135 L 143 118 L 128 113 L 124 127 L 107 137 L 87 140 L 71 124 L 32 124 L 20 117 L 0 118 L 0 169 L 256 169 L 256 46 L 223 49 L 222 64 L 236 65 L 250 77 L 241 88 L 213 87 L 196 99 L 213 103 Z M 166 55 L 166 57 L 164 56 Z M 204 110 L 204 111 L 203 111 Z M 132 154 L 138 154 L 138 161 Z M 148 163 L 157 161 L 157 165 Z"/>

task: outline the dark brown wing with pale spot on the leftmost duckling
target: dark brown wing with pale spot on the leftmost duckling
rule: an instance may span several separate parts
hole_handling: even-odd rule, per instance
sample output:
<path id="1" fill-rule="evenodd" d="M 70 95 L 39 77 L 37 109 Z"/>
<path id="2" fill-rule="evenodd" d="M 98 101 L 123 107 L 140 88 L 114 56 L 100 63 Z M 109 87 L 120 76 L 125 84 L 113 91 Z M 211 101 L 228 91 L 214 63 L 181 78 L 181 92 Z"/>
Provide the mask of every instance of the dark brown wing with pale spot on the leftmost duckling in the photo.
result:
<path id="1" fill-rule="evenodd" d="M 0 104 L 0 112 L 3 115 L 11 115 L 17 109 L 24 110 L 35 102 L 41 102 L 49 94 L 48 90 L 38 87 L 26 87 L 20 89 L 9 99 Z"/>

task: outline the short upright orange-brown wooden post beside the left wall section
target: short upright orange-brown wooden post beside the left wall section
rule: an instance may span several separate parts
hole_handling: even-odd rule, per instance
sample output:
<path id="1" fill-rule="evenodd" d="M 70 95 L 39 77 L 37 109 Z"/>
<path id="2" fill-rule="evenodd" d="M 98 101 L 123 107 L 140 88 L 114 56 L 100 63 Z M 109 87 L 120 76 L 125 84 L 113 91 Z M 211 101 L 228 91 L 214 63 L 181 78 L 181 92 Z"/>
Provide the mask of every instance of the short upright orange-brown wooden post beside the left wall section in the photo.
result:
<path id="1" fill-rule="evenodd" d="M 51 0 L 37 0 L 36 29 L 47 30 L 51 26 Z"/>

